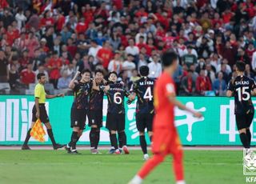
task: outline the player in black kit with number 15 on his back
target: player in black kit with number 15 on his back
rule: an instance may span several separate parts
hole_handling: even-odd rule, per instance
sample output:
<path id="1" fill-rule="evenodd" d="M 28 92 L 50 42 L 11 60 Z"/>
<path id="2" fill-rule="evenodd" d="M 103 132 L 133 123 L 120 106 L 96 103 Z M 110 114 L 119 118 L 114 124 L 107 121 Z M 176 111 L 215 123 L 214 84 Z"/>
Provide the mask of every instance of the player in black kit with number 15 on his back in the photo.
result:
<path id="1" fill-rule="evenodd" d="M 234 114 L 242 145 L 250 148 L 250 124 L 254 118 L 254 105 L 251 94 L 256 94 L 256 84 L 252 78 L 244 75 L 246 64 L 236 63 L 237 77 L 230 80 L 226 96 L 234 96 Z"/>

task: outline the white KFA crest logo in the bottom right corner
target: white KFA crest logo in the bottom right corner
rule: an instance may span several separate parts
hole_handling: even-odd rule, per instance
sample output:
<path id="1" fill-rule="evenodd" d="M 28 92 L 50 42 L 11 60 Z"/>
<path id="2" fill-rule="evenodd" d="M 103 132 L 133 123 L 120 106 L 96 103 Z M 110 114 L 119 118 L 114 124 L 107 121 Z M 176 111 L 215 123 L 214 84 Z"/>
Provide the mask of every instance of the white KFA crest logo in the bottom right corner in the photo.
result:
<path id="1" fill-rule="evenodd" d="M 246 182 L 256 182 L 256 149 L 243 149 L 243 174 Z"/>

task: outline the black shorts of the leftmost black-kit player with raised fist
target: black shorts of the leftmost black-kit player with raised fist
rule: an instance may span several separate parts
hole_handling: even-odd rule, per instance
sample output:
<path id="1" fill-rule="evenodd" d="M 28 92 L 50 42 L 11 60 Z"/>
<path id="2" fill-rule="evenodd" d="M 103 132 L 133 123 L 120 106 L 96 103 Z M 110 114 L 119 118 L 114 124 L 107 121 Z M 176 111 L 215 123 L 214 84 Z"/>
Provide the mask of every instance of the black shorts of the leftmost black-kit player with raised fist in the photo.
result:
<path id="1" fill-rule="evenodd" d="M 80 130 L 84 130 L 86 127 L 86 115 L 86 110 L 71 108 L 71 128 L 79 127 Z"/>

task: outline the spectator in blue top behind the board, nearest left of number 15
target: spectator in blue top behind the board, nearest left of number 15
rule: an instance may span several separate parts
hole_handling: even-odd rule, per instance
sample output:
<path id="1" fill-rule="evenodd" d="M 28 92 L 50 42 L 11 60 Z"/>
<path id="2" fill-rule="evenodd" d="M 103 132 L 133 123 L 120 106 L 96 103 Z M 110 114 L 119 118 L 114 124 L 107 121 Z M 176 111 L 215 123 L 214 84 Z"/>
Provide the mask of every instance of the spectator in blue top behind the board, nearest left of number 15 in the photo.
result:
<path id="1" fill-rule="evenodd" d="M 223 73 L 218 73 L 218 78 L 214 80 L 214 92 L 216 96 L 226 96 L 226 81 L 223 80 Z"/>

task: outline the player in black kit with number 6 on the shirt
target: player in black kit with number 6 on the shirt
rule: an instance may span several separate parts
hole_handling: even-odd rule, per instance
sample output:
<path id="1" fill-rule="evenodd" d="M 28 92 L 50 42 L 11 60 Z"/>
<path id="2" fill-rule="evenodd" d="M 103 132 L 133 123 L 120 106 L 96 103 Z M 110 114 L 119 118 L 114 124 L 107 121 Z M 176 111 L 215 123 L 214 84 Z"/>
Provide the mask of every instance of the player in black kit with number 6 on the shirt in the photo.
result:
<path id="1" fill-rule="evenodd" d="M 110 130 L 110 142 L 111 146 L 114 146 L 114 153 L 121 154 L 120 150 L 123 150 L 125 154 L 129 154 L 126 146 L 124 98 L 125 96 L 131 98 L 131 96 L 124 89 L 123 84 L 117 82 L 117 79 L 118 74 L 114 71 L 110 72 L 109 85 L 105 88 L 108 99 L 106 128 Z M 118 140 L 116 136 L 117 132 Z M 118 142 L 120 149 L 118 149 Z"/>

